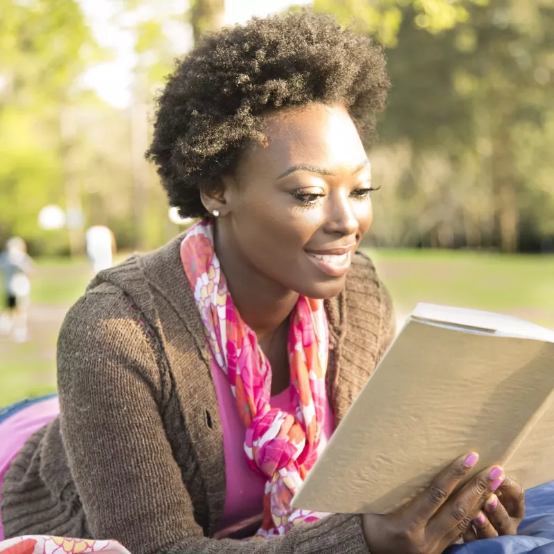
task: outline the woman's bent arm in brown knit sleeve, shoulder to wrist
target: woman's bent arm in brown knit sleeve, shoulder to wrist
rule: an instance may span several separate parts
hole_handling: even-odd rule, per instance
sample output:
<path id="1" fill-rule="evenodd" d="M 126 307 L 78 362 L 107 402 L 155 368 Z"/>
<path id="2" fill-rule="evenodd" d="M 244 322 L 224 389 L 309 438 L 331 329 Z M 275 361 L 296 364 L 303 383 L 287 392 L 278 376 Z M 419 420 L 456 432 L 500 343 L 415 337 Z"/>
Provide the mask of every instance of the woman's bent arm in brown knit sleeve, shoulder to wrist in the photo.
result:
<path id="1" fill-rule="evenodd" d="M 93 537 L 132 554 L 368 553 L 357 515 L 271 541 L 204 537 L 163 429 L 151 340 L 114 287 L 89 292 L 60 333 L 62 436 Z"/>

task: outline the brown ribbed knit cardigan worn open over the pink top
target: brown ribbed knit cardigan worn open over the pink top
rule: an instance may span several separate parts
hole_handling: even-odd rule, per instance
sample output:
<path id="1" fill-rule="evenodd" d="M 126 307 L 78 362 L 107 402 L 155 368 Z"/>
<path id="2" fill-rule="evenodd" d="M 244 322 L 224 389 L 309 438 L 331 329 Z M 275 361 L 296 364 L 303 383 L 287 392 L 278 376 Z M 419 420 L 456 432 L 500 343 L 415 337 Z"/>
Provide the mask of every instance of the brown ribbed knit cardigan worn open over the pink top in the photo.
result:
<path id="1" fill-rule="evenodd" d="M 67 314 L 57 352 L 61 416 L 6 474 L 6 537 L 111 538 L 132 554 L 367 554 L 357 515 L 270 541 L 209 538 L 225 501 L 222 426 L 181 240 L 103 271 Z M 394 318 L 361 254 L 345 291 L 325 306 L 339 422 L 393 338 Z"/>

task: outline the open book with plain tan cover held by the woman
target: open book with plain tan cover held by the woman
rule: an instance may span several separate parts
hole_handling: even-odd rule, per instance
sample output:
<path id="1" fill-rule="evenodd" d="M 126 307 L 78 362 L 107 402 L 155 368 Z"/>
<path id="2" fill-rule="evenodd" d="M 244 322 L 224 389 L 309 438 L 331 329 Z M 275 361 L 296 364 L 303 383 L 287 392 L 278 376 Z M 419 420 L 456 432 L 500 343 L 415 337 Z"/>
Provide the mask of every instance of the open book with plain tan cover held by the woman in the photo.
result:
<path id="1" fill-rule="evenodd" d="M 499 463 L 524 488 L 554 479 L 554 332 L 419 304 L 292 506 L 392 512 L 471 451 L 470 476 Z"/>

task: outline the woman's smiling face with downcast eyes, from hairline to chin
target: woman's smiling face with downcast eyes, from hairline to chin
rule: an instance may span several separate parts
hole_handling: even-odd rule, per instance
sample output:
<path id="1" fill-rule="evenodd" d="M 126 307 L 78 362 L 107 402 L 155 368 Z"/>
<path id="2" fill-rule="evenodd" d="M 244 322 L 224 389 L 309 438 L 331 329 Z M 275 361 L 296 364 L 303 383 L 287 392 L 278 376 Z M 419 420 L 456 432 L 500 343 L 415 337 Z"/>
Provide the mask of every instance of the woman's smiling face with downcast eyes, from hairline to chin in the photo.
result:
<path id="1" fill-rule="evenodd" d="M 287 291 L 336 296 L 372 221 L 370 164 L 357 129 L 343 107 L 312 105 L 269 116 L 267 137 L 224 179 L 214 206 L 222 244 Z"/>

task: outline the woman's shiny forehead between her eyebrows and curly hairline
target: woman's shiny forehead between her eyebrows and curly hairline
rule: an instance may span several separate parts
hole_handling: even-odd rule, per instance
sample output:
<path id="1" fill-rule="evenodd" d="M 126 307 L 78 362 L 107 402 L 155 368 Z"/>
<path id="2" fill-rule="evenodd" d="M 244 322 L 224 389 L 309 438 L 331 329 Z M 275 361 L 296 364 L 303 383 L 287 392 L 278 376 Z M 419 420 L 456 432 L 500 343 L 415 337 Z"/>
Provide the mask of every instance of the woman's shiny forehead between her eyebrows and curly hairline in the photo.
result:
<path id="1" fill-rule="evenodd" d="M 303 163 L 348 170 L 366 159 L 356 126 L 342 106 L 285 109 L 267 116 L 265 133 L 267 145 L 256 145 L 244 160 L 265 172 Z"/>

